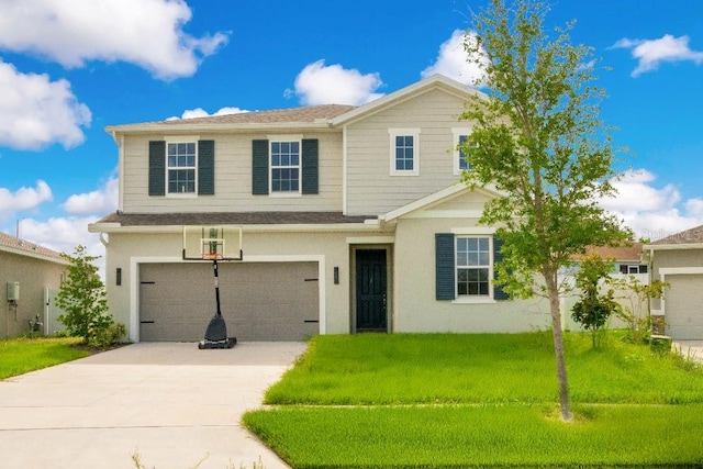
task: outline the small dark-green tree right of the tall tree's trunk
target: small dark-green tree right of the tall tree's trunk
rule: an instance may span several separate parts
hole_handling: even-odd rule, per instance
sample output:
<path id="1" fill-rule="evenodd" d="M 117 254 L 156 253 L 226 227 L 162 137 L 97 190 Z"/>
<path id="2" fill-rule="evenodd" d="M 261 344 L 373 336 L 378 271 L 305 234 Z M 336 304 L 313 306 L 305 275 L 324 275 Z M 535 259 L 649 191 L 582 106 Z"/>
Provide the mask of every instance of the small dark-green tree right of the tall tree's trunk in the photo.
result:
<path id="1" fill-rule="evenodd" d="M 573 305 L 571 317 L 591 332 L 593 347 L 599 345 L 599 332 L 611 315 L 621 309 L 612 288 L 602 292 L 604 287 L 610 287 L 614 259 L 603 259 L 598 254 L 591 254 L 581 259 L 576 273 L 576 286 L 581 290 L 581 299 Z"/>

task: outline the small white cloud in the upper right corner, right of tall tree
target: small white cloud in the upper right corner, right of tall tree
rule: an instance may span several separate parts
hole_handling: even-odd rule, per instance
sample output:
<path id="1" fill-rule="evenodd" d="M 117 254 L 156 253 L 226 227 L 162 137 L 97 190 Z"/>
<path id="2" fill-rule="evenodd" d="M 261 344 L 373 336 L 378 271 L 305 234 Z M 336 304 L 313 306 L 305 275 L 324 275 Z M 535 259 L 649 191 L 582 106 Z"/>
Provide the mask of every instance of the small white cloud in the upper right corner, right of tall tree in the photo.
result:
<path id="1" fill-rule="evenodd" d="M 613 44 L 612 48 L 629 48 L 632 55 L 639 63 L 631 74 L 633 77 L 652 71 L 665 62 L 693 62 L 703 64 L 703 52 L 692 51 L 689 46 L 689 36 L 674 37 L 665 34 L 658 40 L 629 40 L 622 38 Z"/>

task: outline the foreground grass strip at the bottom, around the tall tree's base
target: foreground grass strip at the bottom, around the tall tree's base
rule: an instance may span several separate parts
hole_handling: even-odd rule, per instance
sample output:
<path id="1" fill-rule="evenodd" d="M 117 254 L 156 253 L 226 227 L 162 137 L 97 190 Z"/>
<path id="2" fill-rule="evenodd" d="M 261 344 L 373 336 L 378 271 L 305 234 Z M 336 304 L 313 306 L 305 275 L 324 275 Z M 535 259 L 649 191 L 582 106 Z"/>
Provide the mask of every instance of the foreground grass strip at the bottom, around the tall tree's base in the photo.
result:
<path id="1" fill-rule="evenodd" d="M 300 407 L 244 423 L 293 468 L 703 465 L 703 405 Z"/>

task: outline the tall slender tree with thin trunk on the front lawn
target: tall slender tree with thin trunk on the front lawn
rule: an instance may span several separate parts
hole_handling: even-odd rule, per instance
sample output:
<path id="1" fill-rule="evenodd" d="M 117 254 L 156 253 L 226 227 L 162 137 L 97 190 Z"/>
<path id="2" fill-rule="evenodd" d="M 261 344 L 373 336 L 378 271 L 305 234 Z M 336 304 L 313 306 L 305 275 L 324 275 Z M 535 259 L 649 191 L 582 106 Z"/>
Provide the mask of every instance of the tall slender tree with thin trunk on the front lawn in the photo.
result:
<path id="1" fill-rule="evenodd" d="M 488 89 L 461 115 L 475 125 L 462 180 L 503 194 L 481 216 L 504 242 L 498 282 L 514 298 L 548 298 L 561 418 L 570 421 L 558 272 L 587 246 L 618 245 L 632 234 L 596 203 L 615 193 L 616 175 L 610 129 L 599 119 L 604 92 L 591 85 L 593 52 L 570 43 L 573 22 L 550 38 L 547 12 L 538 0 L 510 8 L 491 0 L 472 14 L 467 60 L 483 72 L 475 85 Z"/>

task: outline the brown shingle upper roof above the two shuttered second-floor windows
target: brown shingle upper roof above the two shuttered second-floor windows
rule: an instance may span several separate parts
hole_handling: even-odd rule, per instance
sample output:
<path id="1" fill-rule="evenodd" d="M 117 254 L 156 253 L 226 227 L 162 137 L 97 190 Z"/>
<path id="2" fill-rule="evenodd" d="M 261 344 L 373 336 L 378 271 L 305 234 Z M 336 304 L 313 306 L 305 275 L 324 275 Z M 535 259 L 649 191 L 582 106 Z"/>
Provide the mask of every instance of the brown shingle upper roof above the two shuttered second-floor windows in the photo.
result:
<path id="1" fill-rule="evenodd" d="M 209 115 L 205 118 L 175 119 L 165 124 L 270 124 L 287 122 L 315 122 L 333 119 L 353 111 L 356 105 L 323 104 L 304 108 L 276 109 L 271 111 L 242 112 L 238 114 Z"/>

